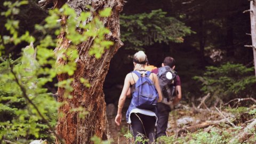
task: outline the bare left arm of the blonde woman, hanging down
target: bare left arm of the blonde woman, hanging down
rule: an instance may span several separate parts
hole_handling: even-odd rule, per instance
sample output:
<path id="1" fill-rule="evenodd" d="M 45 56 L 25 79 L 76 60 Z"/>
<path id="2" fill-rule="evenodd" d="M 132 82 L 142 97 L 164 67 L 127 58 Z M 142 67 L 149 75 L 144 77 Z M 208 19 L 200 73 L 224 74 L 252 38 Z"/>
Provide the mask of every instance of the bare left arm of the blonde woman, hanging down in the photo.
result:
<path id="1" fill-rule="evenodd" d="M 115 122 L 117 125 L 120 125 L 121 121 L 122 121 L 122 109 L 124 107 L 124 102 L 126 99 L 126 94 L 129 91 L 129 87 L 130 87 L 130 75 L 127 74 L 124 79 L 124 87 L 123 87 L 122 93 L 121 93 L 119 101 L 118 101 L 118 110 L 117 110 L 117 115 L 115 118 Z"/>

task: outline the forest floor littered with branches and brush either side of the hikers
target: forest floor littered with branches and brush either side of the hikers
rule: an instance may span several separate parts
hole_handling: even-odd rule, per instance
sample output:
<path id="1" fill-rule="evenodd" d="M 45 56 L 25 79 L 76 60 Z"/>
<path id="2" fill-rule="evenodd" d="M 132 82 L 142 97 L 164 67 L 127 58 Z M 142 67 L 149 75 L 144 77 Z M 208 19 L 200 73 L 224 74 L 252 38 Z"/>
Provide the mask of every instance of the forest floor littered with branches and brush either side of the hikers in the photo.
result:
<path id="1" fill-rule="evenodd" d="M 197 140 L 196 143 L 256 143 L 255 116 L 249 115 L 250 109 L 254 108 L 179 104 L 169 115 L 167 138 L 159 143 L 187 143 L 191 140 Z M 131 143 L 123 136 L 130 129 L 125 119 L 121 126 L 116 126 L 114 119 L 115 116 L 109 118 L 113 143 Z M 199 138 L 198 133 L 203 138 Z"/>

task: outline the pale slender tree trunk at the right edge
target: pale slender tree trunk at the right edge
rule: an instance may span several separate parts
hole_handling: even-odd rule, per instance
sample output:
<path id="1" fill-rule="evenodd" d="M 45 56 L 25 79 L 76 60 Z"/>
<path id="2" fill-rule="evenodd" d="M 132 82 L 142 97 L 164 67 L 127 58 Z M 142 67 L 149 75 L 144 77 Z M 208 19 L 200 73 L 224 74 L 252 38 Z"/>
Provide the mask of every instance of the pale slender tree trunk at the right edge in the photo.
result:
<path id="1" fill-rule="evenodd" d="M 252 34 L 252 50 L 254 58 L 254 71 L 256 77 L 256 0 L 250 2 L 251 10 L 251 34 Z"/>

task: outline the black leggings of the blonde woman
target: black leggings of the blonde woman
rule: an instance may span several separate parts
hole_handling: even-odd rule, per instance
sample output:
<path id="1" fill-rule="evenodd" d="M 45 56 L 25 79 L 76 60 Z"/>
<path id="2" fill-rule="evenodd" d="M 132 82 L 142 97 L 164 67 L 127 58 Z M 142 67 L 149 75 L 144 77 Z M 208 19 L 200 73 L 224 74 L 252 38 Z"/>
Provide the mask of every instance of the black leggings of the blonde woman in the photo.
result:
<path id="1" fill-rule="evenodd" d="M 146 139 L 149 139 L 146 143 L 153 143 L 155 141 L 156 118 L 154 116 L 132 113 L 131 122 L 134 139 L 143 134 L 144 138 L 146 136 Z"/>

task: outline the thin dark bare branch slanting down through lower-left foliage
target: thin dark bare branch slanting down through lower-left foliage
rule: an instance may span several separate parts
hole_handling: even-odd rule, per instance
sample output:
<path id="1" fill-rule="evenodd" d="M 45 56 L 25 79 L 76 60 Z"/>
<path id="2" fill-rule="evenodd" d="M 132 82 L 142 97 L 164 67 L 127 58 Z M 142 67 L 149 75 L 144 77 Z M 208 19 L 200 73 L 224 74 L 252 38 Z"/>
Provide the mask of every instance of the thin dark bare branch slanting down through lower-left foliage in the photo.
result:
<path id="1" fill-rule="evenodd" d="M 13 76 L 14 76 L 15 82 L 18 84 L 18 86 L 19 86 L 20 89 L 21 89 L 21 92 L 22 92 L 23 97 L 27 100 L 28 103 L 30 103 L 30 105 L 32 105 L 32 106 L 36 109 L 38 115 L 43 119 L 43 122 L 46 123 L 46 125 L 49 127 L 50 131 L 51 131 L 52 133 L 54 133 L 54 135 L 61 141 L 61 143 L 64 143 L 64 142 L 62 141 L 62 139 L 59 137 L 59 135 L 54 131 L 54 129 L 52 128 L 52 126 L 49 124 L 49 122 L 46 120 L 46 118 L 45 118 L 45 117 L 42 115 L 42 113 L 39 111 L 39 109 L 37 108 L 37 106 L 35 105 L 35 103 L 29 99 L 29 97 L 28 97 L 28 95 L 27 95 L 27 93 L 26 93 L 26 89 L 25 89 L 25 87 L 19 82 L 18 77 L 16 76 L 15 72 L 13 71 L 13 65 L 12 65 L 11 63 L 10 63 L 10 68 L 11 68 L 11 73 L 12 73 Z"/>

